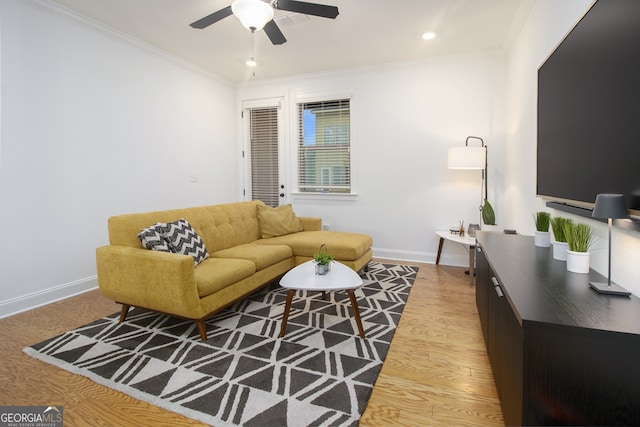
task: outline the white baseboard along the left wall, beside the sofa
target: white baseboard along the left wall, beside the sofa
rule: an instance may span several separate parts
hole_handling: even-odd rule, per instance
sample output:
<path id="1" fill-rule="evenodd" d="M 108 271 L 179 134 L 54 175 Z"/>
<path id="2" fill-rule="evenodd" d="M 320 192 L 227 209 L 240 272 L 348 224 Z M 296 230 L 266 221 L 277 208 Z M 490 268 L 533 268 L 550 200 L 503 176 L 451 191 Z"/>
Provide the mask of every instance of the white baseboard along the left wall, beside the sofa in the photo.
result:
<path id="1" fill-rule="evenodd" d="M 91 276 L 6 301 L 0 301 L 0 319 L 64 300 L 97 287 L 98 276 Z"/>

